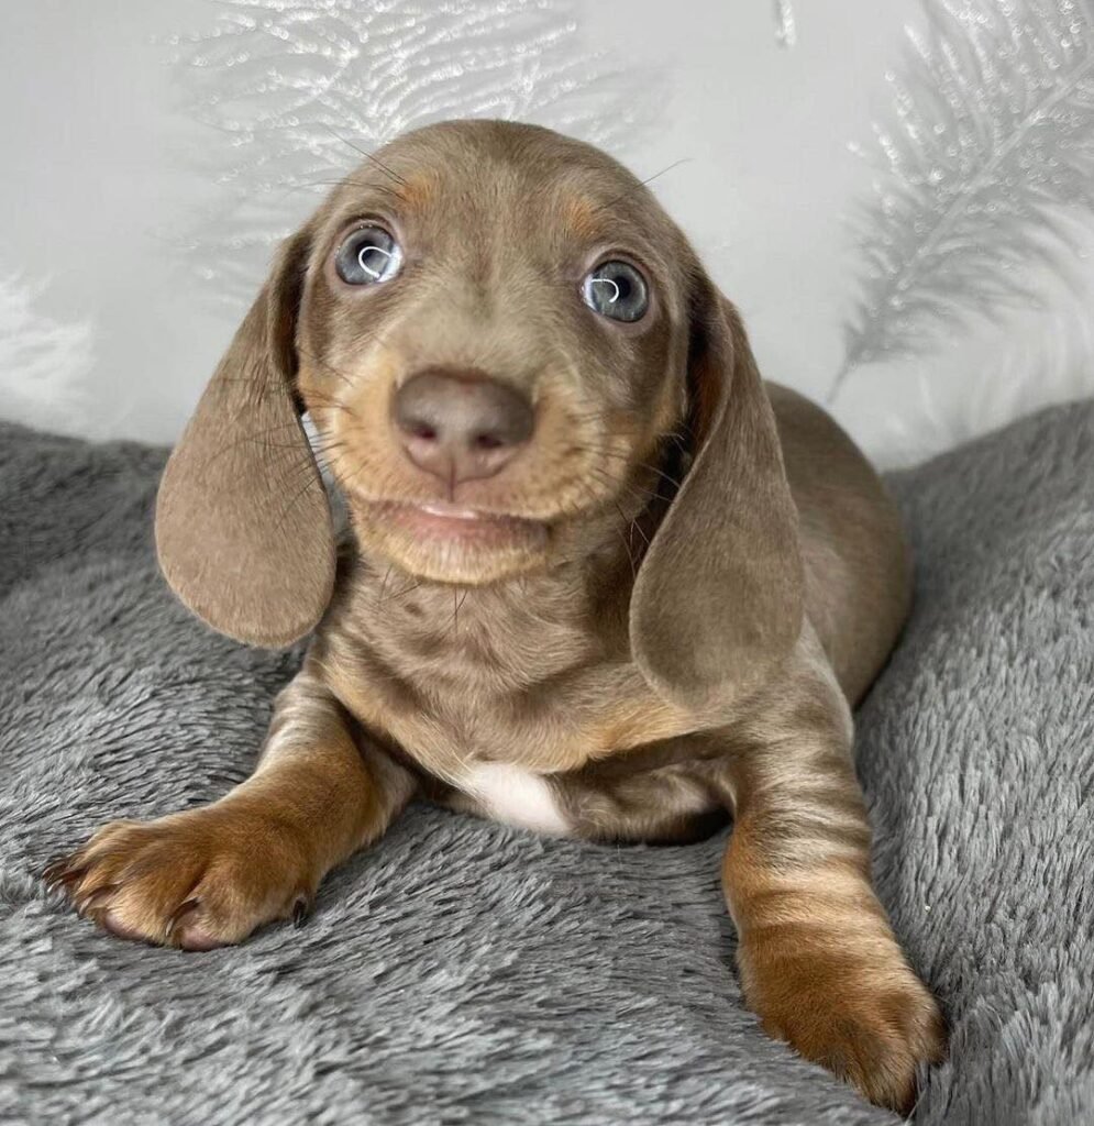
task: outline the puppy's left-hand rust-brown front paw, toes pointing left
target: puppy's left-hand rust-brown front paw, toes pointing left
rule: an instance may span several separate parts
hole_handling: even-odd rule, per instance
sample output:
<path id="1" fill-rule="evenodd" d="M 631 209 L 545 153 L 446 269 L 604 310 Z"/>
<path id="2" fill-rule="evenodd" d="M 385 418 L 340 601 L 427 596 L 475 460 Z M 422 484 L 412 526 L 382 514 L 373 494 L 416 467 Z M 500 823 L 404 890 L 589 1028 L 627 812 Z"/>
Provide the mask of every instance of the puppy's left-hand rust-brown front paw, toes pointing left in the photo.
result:
<path id="1" fill-rule="evenodd" d="M 317 883 L 288 825 L 223 803 L 111 822 L 43 875 L 120 938 L 210 950 L 299 918 Z"/>

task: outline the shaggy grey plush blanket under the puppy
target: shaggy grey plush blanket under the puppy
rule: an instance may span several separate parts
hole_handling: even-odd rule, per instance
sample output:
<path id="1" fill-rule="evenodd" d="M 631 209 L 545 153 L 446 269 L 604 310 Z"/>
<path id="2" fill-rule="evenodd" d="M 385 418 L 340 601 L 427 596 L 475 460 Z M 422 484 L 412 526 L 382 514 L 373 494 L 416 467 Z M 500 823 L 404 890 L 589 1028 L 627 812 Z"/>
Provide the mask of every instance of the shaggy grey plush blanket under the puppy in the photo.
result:
<path id="1" fill-rule="evenodd" d="M 0 429 L 0 1119 L 818 1124 L 893 1116 L 762 1036 L 689 848 L 428 808 L 302 930 L 186 955 L 36 873 L 248 771 L 294 654 L 161 584 L 163 455 Z M 880 893 L 953 1027 L 917 1120 L 1094 1121 L 1094 405 L 903 474 L 918 605 L 860 715 Z"/>

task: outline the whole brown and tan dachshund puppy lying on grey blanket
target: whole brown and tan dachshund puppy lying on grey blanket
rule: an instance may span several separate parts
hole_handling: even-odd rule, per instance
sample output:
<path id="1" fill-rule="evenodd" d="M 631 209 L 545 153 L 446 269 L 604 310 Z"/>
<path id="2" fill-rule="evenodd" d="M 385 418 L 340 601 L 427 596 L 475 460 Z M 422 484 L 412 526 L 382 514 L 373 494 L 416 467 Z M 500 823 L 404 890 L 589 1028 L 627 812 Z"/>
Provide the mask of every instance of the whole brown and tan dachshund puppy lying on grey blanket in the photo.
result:
<path id="1" fill-rule="evenodd" d="M 942 1020 L 871 888 L 851 751 L 908 609 L 900 524 L 835 423 L 764 385 L 619 164 L 482 120 L 370 158 L 281 249 L 168 464 L 156 538 L 214 628 L 314 634 L 250 779 L 52 868 L 82 912 L 239 942 L 415 796 L 594 840 L 688 840 L 730 811 L 748 1004 L 911 1105 Z"/>

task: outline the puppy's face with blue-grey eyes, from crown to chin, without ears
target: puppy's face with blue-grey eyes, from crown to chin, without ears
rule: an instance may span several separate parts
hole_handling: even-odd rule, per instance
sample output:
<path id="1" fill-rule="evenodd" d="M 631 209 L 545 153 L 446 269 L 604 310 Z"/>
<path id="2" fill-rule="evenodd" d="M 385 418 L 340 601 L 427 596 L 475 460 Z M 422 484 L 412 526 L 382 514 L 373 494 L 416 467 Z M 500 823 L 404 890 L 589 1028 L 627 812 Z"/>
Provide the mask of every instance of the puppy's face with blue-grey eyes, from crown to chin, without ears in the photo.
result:
<path id="1" fill-rule="evenodd" d="M 297 387 L 366 551 L 485 583 L 644 507 L 693 259 L 630 173 L 535 127 L 433 126 L 348 178 L 310 242 Z"/>

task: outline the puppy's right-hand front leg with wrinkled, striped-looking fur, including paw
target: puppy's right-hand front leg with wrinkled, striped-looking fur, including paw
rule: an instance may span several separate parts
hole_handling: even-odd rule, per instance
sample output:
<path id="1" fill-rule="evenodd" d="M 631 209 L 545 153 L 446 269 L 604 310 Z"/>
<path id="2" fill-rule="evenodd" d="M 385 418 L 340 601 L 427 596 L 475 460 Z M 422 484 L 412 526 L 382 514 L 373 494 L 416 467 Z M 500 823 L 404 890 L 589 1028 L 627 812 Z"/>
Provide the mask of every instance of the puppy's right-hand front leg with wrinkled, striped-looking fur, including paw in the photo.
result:
<path id="1" fill-rule="evenodd" d="M 735 826 L 723 868 L 748 1006 L 764 1029 L 907 1111 L 944 1029 L 870 884 L 870 826 L 850 716 L 810 686 L 751 733 L 732 766 Z"/>

